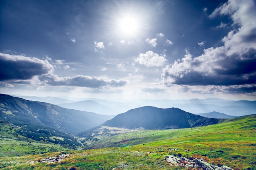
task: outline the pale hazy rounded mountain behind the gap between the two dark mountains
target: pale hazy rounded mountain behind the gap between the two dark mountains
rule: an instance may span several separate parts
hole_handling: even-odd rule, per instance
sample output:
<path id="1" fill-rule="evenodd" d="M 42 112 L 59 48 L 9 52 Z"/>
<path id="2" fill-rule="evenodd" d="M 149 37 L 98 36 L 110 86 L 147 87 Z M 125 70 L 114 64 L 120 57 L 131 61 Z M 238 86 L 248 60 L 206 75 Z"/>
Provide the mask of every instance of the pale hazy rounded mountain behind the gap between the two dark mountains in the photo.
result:
<path id="1" fill-rule="evenodd" d="M 71 109 L 82 110 L 87 112 L 94 112 L 94 113 L 99 113 L 103 115 L 117 114 L 114 108 L 108 107 L 103 104 L 99 104 L 98 102 L 94 102 L 93 100 L 84 100 L 84 101 L 74 102 L 74 103 L 58 104 L 58 106 L 61 106 L 63 108 L 71 108 Z"/>

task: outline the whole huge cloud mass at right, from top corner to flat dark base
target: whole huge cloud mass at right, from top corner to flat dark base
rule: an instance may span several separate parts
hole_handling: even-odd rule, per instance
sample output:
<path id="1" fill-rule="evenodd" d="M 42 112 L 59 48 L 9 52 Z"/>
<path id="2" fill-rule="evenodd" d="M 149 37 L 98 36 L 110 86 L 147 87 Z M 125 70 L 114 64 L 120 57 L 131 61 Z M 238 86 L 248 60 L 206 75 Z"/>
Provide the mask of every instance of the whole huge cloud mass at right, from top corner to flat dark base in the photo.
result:
<path id="1" fill-rule="evenodd" d="M 187 51 L 184 58 L 163 68 L 162 79 L 166 85 L 256 84 L 255 4 L 252 0 L 229 0 L 210 17 L 224 14 L 234 22 L 234 29 L 222 38 L 224 46 L 204 49 L 198 57 Z"/>

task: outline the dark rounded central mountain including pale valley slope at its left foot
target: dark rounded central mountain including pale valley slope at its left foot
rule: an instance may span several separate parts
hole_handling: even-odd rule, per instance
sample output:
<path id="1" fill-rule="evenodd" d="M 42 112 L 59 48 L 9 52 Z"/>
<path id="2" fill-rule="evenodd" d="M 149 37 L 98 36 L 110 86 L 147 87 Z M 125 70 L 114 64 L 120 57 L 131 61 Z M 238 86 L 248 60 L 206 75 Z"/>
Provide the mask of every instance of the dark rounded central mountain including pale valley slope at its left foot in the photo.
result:
<path id="1" fill-rule="evenodd" d="M 127 132 L 193 128 L 218 124 L 225 120 L 227 119 L 214 119 L 194 115 L 179 108 L 164 109 L 144 106 L 119 114 L 100 126 L 79 133 L 78 136 L 83 146 L 86 149 L 91 149 L 101 143 L 102 140 L 108 141 L 109 137 Z"/>

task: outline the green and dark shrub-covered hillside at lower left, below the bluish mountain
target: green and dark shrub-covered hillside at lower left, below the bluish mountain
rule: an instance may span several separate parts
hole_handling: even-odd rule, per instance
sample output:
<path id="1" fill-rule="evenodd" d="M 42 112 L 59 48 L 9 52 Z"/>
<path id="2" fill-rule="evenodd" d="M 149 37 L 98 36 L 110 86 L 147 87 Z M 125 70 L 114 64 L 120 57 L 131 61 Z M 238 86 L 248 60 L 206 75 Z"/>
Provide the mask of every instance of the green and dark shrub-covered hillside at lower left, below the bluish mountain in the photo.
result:
<path id="1" fill-rule="evenodd" d="M 40 129 L 32 130 L 0 120 L 0 157 L 72 150 L 81 146 L 72 135 L 55 132 L 49 127 L 47 129 L 39 126 L 35 128 Z"/>

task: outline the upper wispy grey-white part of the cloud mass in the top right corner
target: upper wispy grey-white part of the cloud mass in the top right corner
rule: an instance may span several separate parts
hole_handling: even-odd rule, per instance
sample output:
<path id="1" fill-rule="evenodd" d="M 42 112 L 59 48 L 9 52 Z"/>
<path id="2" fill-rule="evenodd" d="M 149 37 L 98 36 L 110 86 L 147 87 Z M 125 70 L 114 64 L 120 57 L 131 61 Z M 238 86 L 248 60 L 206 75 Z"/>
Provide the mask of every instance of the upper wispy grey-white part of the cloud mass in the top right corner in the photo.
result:
<path id="1" fill-rule="evenodd" d="M 256 49 L 256 10 L 254 0 L 229 0 L 218 7 L 209 16 L 229 15 L 235 28 L 222 39 L 225 47 L 229 48 L 227 55 L 244 52 L 249 48 Z"/>

